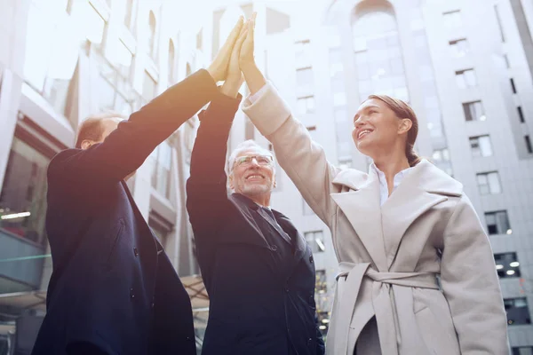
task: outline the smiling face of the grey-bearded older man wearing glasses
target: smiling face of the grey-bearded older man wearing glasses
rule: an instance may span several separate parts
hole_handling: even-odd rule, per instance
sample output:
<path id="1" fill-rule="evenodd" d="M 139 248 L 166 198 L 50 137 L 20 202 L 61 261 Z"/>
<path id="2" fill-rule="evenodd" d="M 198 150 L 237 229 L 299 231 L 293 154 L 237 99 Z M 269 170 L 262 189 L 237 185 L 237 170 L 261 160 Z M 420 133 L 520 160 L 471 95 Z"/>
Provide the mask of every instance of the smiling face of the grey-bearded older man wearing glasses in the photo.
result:
<path id="1" fill-rule="evenodd" d="M 267 163 L 260 158 L 253 158 L 249 161 L 243 158 L 247 156 L 272 157 L 271 154 L 259 147 L 250 147 L 239 152 L 229 175 L 229 187 L 235 193 L 241 193 L 252 200 L 255 200 L 255 197 L 259 195 L 270 195 L 275 187 L 274 160 L 269 159 Z"/>

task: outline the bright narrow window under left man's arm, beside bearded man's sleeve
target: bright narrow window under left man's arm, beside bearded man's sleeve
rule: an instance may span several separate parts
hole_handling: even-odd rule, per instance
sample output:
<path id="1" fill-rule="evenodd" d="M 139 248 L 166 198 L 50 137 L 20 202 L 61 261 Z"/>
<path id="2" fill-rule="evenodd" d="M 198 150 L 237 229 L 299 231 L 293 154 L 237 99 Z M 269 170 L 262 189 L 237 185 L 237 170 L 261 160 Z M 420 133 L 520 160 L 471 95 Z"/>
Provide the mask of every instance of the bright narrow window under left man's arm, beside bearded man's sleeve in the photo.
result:
<path id="1" fill-rule="evenodd" d="M 152 161 L 152 186 L 166 199 L 171 198 L 172 147 L 168 142 L 157 146 L 150 154 Z"/>

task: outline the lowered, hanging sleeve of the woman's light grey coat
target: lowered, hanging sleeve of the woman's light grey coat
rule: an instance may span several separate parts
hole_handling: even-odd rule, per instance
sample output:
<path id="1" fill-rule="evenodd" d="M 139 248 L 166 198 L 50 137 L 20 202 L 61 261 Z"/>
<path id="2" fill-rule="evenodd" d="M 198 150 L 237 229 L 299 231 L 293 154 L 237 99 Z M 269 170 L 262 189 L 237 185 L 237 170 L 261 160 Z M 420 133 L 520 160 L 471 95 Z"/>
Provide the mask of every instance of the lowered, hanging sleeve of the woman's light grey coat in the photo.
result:
<path id="1" fill-rule="evenodd" d="M 506 354 L 507 320 L 489 238 L 463 195 L 444 233 L 442 290 L 461 354 Z"/>

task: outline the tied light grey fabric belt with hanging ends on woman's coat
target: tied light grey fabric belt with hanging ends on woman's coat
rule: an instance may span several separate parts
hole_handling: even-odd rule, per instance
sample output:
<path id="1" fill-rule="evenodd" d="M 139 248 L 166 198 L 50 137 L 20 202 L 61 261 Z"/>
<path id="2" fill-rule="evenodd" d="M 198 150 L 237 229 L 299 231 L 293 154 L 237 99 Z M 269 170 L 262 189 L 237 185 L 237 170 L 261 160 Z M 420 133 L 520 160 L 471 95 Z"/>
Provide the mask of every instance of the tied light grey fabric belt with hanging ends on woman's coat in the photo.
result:
<path id="1" fill-rule="evenodd" d="M 354 349 L 348 349 L 348 335 L 355 304 L 372 308 L 370 318 L 375 315 L 378 323 L 379 344 L 383 354 L 398 355 L 398 344 L 401 343 L 400 327 L 396 312 L 396 298 L 399 304 L 404 297 L 412 297 L 411 288 L 439 289 L 436 274 L 433 272 L 378 272 L 370 267 L 370 263 L 340 263 L 339 278 L 346 278 L 342 294 L 336 296 L 335 333 L 331 339 L 333 352 L 328 353 L 349 355 Z M 361 294 L 358 299 L 362 282 L 371 282 L 371 299 Z M 337 290 L 338 291 L 338 290 Z M 354 327 L 361 332 L 362 327 L 370 319 L 355 319 Z M 362 324 L 357 324 L 357 322 Z M 352 352 L 348 352 L 352 351 Z"/>

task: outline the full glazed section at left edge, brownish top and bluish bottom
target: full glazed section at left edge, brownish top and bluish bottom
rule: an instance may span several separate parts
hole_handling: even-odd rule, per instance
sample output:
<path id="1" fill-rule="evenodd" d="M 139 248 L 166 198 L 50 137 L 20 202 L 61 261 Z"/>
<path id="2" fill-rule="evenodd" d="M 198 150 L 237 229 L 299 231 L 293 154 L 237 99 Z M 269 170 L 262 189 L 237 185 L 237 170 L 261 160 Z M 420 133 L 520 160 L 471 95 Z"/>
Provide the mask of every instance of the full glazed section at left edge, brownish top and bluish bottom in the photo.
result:
<path id="1" fill-rule="evenodd" d="M 13 138 L 0 193 L 0 294 L 41 287 L 50 158 Z"/>

